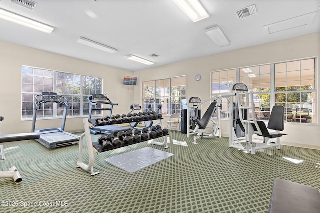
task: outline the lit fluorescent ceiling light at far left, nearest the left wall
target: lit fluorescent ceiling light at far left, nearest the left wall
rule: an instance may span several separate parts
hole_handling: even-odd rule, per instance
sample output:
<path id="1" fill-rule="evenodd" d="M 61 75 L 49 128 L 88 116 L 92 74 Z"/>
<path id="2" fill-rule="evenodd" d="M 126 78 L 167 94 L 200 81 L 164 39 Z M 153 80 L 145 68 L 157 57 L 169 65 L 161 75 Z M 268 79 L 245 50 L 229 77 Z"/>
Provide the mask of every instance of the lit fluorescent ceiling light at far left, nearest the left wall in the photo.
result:
<path id="1" fill-rule="evenodd" d="M 11 21 L 13 23 L 17 23 L 17 24 L 21 24 L 23 26 L 30 27 L 32 29 L 46 32 L 48 34 L 50 34 L 54 29 L 52 26 L 49 26 L 49 25 L 40 23 L 38 21 L 23 17 L 21 15 L 9 12 L 4 9 L 0 9 L 0 18 L 7 20 L 7 21 Z"/>

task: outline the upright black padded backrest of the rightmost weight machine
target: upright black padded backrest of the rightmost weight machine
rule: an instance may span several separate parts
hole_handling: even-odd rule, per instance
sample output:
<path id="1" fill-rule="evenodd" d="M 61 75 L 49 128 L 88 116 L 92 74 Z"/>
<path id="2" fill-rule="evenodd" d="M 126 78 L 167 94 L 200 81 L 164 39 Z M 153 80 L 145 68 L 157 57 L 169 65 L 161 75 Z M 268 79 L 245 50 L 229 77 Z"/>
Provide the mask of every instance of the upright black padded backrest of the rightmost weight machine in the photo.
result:
<path id="1" fill-rule="evenodd" d="M 273 106 L 270 114 L 268 128 L 279 131 L 284 130 L 284 106 Z"/>

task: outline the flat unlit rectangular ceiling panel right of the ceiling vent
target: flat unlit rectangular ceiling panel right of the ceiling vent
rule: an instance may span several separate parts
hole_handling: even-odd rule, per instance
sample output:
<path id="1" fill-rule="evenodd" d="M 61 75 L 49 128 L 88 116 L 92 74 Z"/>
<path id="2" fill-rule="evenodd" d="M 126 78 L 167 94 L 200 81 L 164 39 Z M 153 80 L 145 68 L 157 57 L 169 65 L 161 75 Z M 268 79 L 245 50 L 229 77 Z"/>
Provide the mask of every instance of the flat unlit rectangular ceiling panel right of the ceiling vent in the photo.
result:
<path id="1" fill-rule="evenodd" d="M 276 23 L 271 23 L 271 24 L 265 25 L 264 27 L 267 27 L 269 30 L 269 34 L 272 34 L 275 32 L 281 32 L 284 30 L 293 29 L 300 26 L 311 25 L 313 23 L 316 13 L 317 11 L 311 12 L 308 14 L 289 18 L 283 21 L 279 21 Z"/>

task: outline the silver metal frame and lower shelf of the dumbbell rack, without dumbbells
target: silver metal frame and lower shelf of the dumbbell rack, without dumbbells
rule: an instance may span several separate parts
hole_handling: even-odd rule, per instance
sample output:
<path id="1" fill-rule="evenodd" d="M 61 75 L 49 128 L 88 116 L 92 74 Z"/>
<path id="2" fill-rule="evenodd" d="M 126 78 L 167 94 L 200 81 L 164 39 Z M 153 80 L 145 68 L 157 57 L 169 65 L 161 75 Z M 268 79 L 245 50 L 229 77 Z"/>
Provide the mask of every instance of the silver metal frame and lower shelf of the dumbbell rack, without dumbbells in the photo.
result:
<path id="1" fill-rule="evenodd" d="M 166 135 L 161 135 L 158 137 L 154 137 L 152 139 L 148 139 L 148 140 L 143 140 L 143 141 L 139 141 L 139 142 L 133 142 L 130 144 L 123 144 L 122 146 L 119 147 L 110 147 L 107 149 L 102 149 L 102 146 L 98 143 L 98 142 L 92 142 L 92 138 L 91 138 L 91 133 L 90 133 L 90 128 L 92 127 L 92 124 L 89 123 L 87 118 L 83 119 L 83 123 L 84 123 L 84 133 L 82 133 L 82 135 L 80 136 L 80 141 L 79 141 L 79 159 L 77 162 L 77 167 L 78 168 L 82 168 L 85 171 L 91 171 L 91 176 L 99 174 L 100 172 L 94 172 L 93 170 L 93 165 L 94 165 L 94 154 L 100 153 L 100 152 L 105 152 L 108 150 L 112 150 L 112 149 L 117 149 L 120 147 L 124 147 L 124 146 L 129 146 L 132 144 L 137 144 L 137 143 L 141 143 L 144 141 L 148 141 L 148 140 L 152 140 L 151 144 L 152 145 L 160 145 L 160 146 L 165 146 L 164 148 L 168 148 L 167 145 L 167 136 L 169 134 Z M 82 161 L 82 153 L 83 153 L 83 139 L 86 139 L 86 143 L 87 143 L 87 149 L 88 149 L 88 154 L 89 154 L 89 163 L 85 164 Z M 160 141 L 155 141 L 155 139 L 159 139 L 162 138 L 162 142 Z M 92 146 L 90 146 L 92 144 Z"/>

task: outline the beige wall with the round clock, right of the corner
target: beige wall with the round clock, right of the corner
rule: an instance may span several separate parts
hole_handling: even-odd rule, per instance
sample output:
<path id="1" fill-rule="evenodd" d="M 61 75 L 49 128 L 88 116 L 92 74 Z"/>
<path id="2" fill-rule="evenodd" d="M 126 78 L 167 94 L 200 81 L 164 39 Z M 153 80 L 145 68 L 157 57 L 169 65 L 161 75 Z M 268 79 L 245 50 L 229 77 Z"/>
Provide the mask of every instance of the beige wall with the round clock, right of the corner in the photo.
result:
<path id="1" fill-rule="evenodd" d="M 181 53 L 183 54 L 183 53 Z M 202 58 L 181 61 L 165 66 L 144 69 L 135 72 L 140 81 L 186 75 L 186 97 L 197 96 L 203 100 L 210 98 L 211 71 L 232 69 L 301 59 L 320 55 L 320 33 L 290 38 L 286 40 L 266 43 L 258 46 L 224 52 L 221 54 Z M 317 60 L 319 67 L 319 60 Z M 195 81 L 194 76 L 201 74 L 200 81 Z M 319 75 L 317 75 L 317 82 Z M 317 86 L 319 91 L 319 86 Z M 134 102 L 141 103 L 141 86 L 134 90 Z M 317 112 L 319 109 L 319 92 L 317 94 Z M 204 107 L 205 109 L 205 107 Z M 168 118 L 166 118 L 167 120 Z M 287 136 L 281 138 L 282 144 L 320 148 L 319 116 L 316 125 L 301 125 L 294 123 L 285 124 L 284 132 Z M 164 122 L 165 123 L 165 122 Z M 228 121 L 221 122 L 222 135 L 229 135 Z"/>

